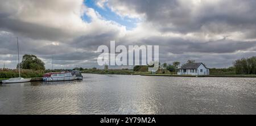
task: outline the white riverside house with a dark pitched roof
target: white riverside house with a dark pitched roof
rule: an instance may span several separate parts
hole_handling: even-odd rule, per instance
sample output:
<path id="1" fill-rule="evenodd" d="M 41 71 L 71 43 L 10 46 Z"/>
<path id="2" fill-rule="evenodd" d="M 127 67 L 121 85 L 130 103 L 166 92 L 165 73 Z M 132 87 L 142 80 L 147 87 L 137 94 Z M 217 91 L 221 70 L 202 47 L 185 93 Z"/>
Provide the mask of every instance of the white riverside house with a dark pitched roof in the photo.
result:
<path id="1" fill-rule="evenodd" d="M 202 62 L 187 63 L 178 68 L 178 75 L 209 75 L 210 70 Z"/>

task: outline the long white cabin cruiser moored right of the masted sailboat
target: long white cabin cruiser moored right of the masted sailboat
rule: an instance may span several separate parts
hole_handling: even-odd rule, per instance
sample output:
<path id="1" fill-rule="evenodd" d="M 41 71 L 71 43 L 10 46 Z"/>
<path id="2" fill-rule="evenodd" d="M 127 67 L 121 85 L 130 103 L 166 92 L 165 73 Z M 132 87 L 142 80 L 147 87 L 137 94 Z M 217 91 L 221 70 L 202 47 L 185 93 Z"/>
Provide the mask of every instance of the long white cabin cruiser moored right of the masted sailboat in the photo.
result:
<path id="1" fill-rule="evenodd" d="M 76 75 L 72 72 L 54 72 L 46 73 L 43 76 L 43 81 L 72 81 L 76 79 Z"/>

